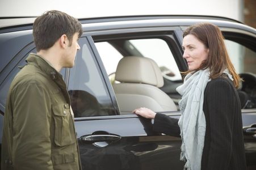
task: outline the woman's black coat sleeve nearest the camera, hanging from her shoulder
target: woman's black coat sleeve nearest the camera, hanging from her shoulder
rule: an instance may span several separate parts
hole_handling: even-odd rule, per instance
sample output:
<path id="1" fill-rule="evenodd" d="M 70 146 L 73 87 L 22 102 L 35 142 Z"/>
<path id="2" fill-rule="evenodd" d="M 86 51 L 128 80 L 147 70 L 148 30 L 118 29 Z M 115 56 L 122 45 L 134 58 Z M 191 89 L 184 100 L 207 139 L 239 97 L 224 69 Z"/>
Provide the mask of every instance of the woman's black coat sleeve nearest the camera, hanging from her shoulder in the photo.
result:
<path id="1" fill-rule="evenodd" d="M 206 169 L 227 169 L 232 154 L 232 131 L 236 96 L 232 84 L 219 79 L 207 88 L 210 143 Z"/>

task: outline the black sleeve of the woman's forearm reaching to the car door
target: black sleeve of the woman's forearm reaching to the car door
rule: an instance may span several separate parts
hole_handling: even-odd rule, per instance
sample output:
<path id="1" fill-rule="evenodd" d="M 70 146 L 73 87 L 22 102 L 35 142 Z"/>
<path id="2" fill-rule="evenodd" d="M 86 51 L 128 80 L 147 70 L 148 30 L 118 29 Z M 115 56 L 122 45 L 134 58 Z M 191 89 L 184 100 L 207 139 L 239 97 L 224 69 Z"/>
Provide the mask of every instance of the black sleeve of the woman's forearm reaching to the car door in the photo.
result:
<path id="1" fill-rule="evenodd" d="M 154 118 L 153 131 L 174 137 L 181 137 L 181 130 L 179 129 L 178 121 L 178 118 L 172 118 L 165 114 L 157 113 Z"/>

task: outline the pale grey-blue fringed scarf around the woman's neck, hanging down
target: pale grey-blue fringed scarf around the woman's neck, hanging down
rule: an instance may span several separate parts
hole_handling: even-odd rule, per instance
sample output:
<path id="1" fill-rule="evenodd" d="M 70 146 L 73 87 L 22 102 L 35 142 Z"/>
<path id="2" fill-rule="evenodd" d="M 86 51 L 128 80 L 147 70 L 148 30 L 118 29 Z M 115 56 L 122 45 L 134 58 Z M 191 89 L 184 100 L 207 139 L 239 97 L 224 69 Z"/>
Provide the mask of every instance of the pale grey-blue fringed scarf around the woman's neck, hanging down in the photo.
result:
<path id="1" fill-rule="evenodd" d="M 224 73 L 233 80 L 228 71 L 225 70 Z M 191 170 L 201 169 L 206 127 L 204 90 L 210 80 L 208 69 L 199 70 L 187 74 L 184 83 L 176 89 L 182 95 L 179 101 L 181 117 L 178 122 L 182 138 L 181 160 L 186 162 L 184 168 Z"/>

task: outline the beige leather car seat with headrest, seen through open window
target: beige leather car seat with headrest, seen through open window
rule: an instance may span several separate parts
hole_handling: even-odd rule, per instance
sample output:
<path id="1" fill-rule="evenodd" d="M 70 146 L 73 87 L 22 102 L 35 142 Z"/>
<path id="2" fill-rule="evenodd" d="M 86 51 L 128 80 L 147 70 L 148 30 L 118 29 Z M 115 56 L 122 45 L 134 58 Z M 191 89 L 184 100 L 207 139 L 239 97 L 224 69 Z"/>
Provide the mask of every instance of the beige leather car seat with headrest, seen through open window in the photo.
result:
<path id="1" fill-rule="evenodd" d="M 159 87 L 163 76 L 157 63 L 146 57 L 124 57 L 116 69 L 113 84 L 121 114 L 146 107 L 154 112 L 177 111 L 174 101 Z"/>

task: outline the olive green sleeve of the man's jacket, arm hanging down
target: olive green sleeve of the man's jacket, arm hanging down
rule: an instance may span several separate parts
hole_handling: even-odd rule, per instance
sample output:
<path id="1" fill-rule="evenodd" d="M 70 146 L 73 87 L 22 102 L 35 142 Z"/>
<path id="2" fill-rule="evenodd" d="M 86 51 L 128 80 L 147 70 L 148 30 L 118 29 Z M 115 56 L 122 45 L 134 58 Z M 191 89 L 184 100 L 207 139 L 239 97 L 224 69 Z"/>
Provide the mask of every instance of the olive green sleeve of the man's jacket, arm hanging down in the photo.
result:
<path id="1" fill-rule="evenodd" d="M 51 99 L 38 83 L 13 90 L 12 162 L 16 169 L 53 169 L 51 160 Z"/>

